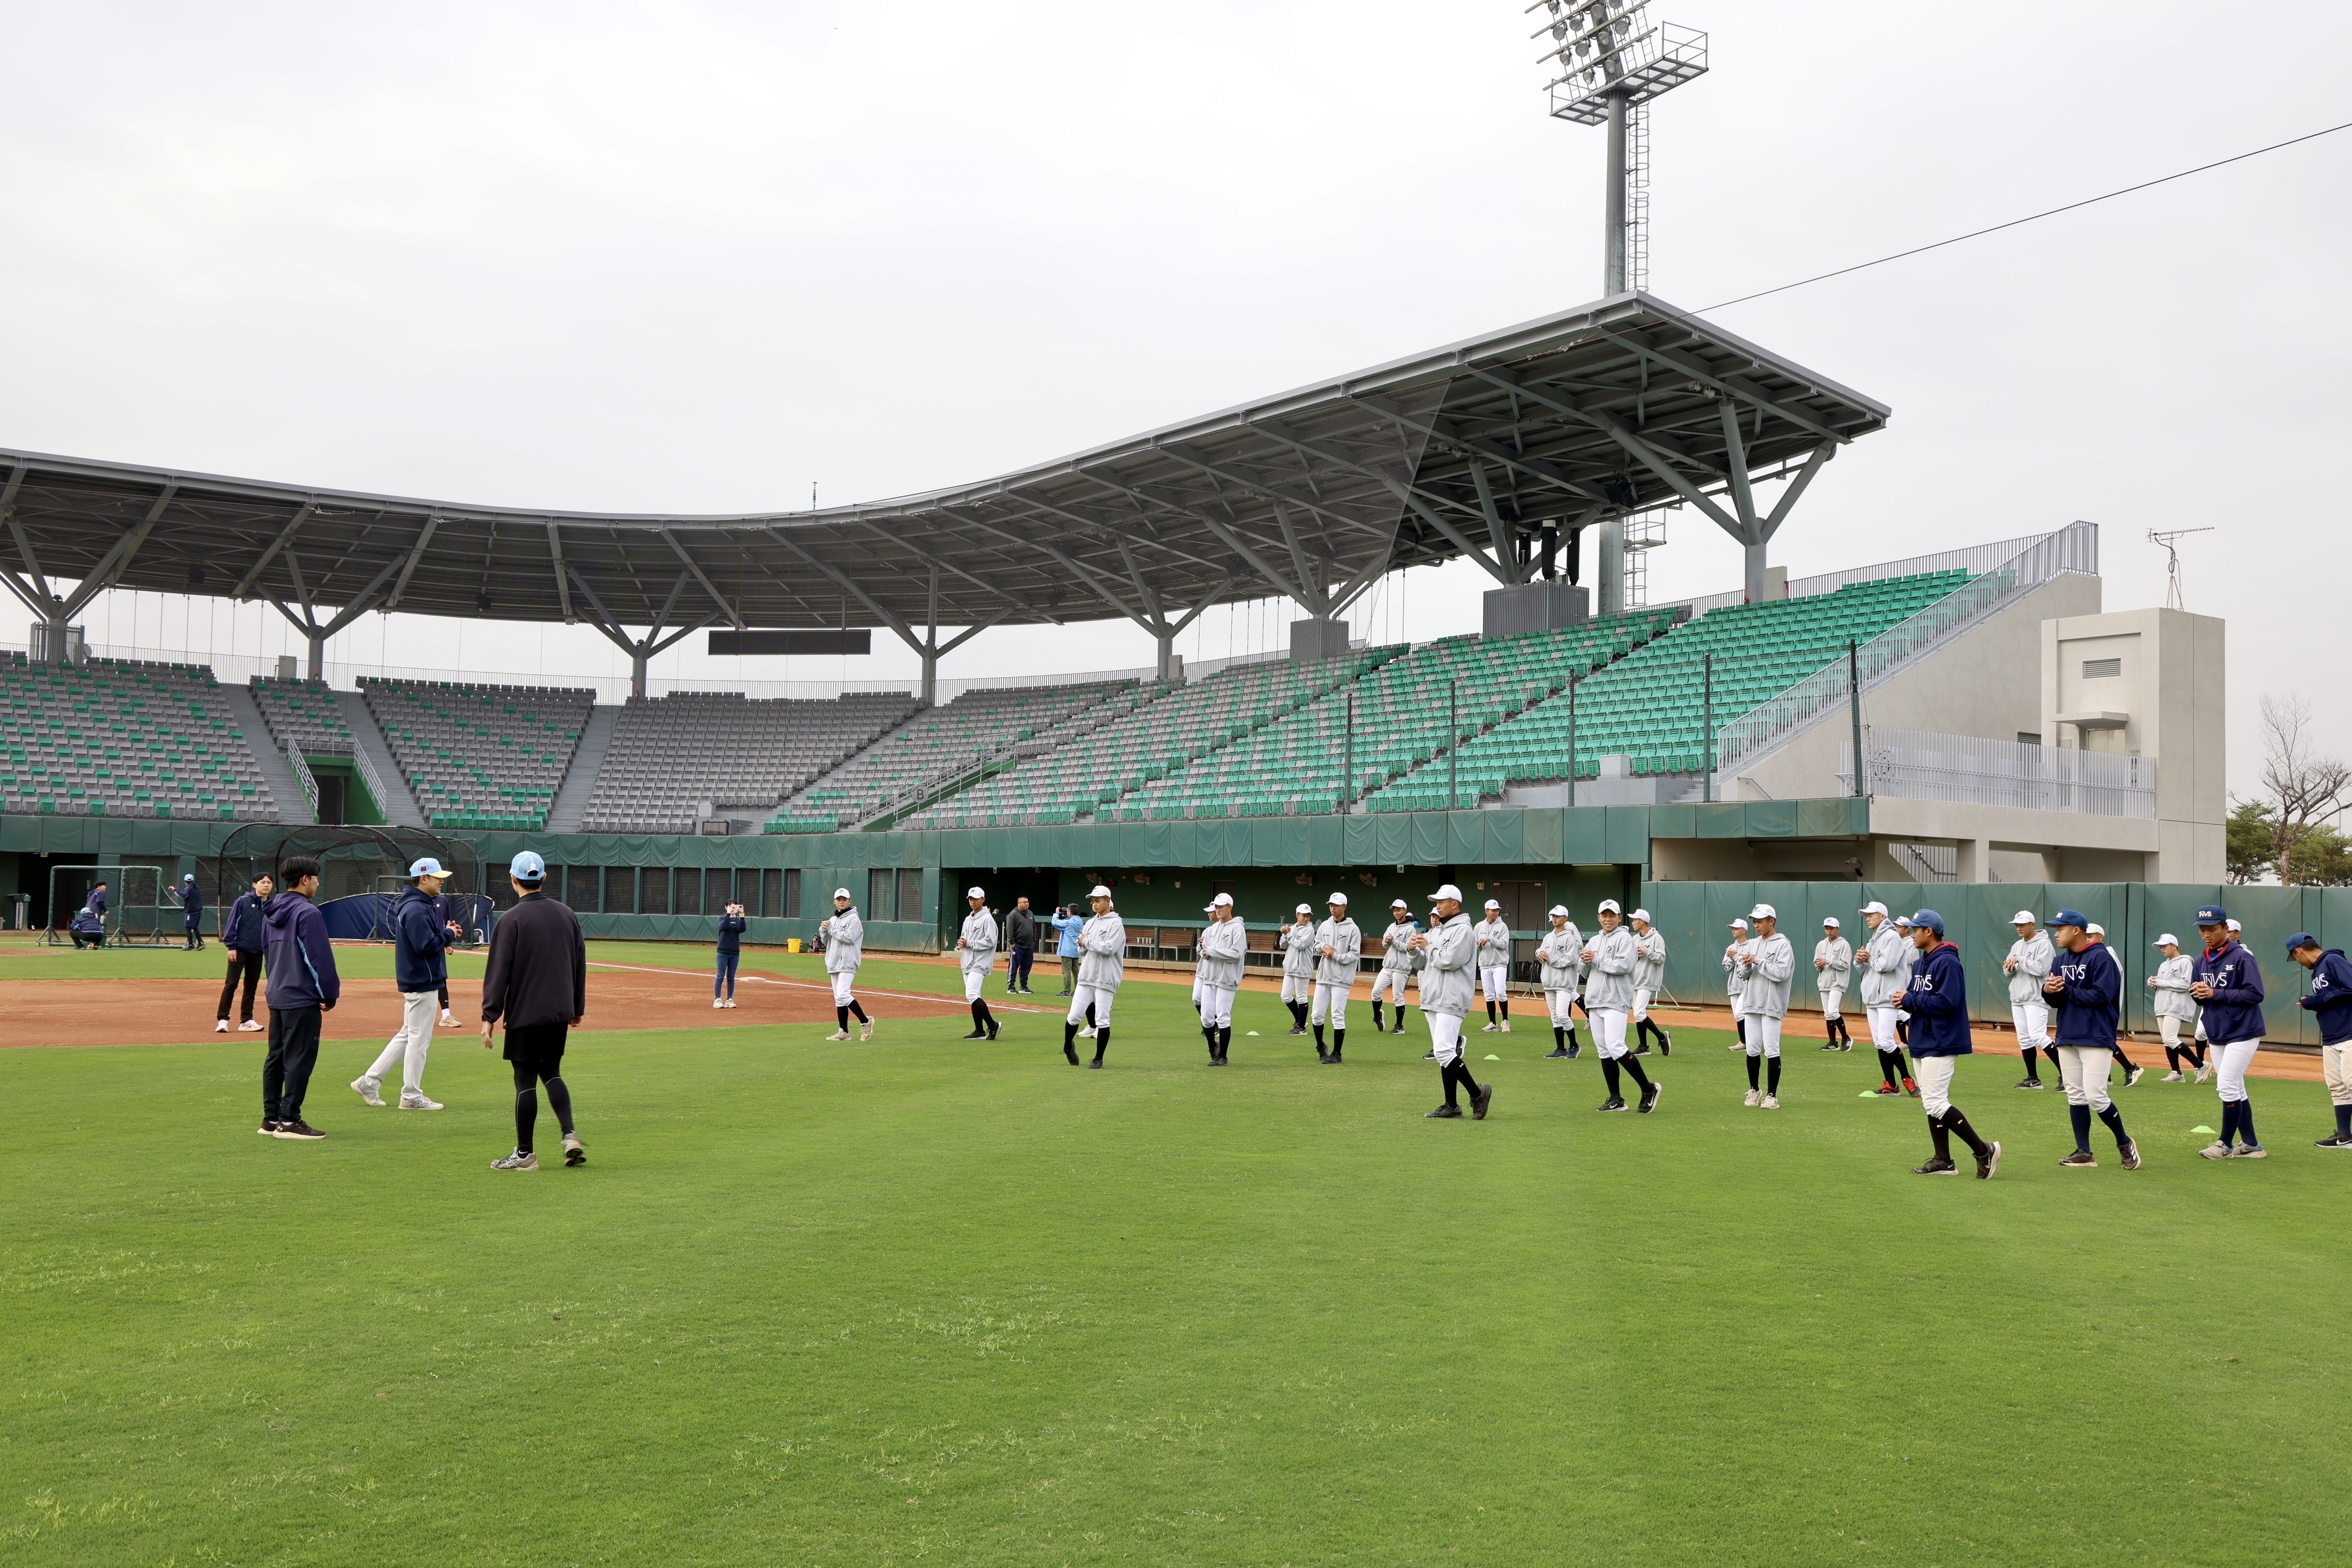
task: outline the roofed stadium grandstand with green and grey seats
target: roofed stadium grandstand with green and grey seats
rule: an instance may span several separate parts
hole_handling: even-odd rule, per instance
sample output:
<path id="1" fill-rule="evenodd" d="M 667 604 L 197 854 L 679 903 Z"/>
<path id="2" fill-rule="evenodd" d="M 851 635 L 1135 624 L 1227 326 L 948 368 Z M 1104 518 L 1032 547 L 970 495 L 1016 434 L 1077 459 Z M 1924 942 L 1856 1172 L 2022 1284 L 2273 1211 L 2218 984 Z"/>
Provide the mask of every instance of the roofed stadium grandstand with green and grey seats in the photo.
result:
<path id="1" fill-rule="evenodd" d="M 1272 858 L 1312 879 L 1552 856 L 1625 893 L 2218 879 L 2218 771 L 2173 759 L 2218 745 L 2199 670 L 2220 632 L 2105 614 L 2091 524 L 1799 581 L 1764 562 L 1837 447 L 1886 418 L 1623 294 L 983 484 L 804 512 L 524 512 L 0 451 L 21 562 L 0 583 L 33 614 L 0 783 L 9 823 L 42 823 L 0 832 L 54 856 L 96 846 L 68 818 L 383 820 L 468 835 L 485 863 L 534 835 L 597 919 L 633 922 L 614 933 L 673 931 L 736 867 L 769 936 L 809 933 L 807 875 L 915 947 L 946 938 L 941 889 L 967 867 L 1047 863 Z M 1630 529 L 1661 508 L 1738 538 L 1740 583 L 1642 604 Z M 1494 581 L 1482 632 L 1350 639 L 1374 581 L 1449 559 Z M 92 658 L 73 618 L 122 588 L 266 599 L 310 670 L 219 684 Z M 1174 656 L 1204 609 L 1268 592 L 1296 607 L 1287 654 Z M 367 611 L 586 623 L 630 682 L 327 682 L 327 642 Z M 938 701 L 941 661 L 993 628 L 1105 618 L 1152 635 L 1150 672 Z M 880 630 L 920 677 L 652 691 L 649 658 L 696 630 L 753 658 L 854 656 Z"/>

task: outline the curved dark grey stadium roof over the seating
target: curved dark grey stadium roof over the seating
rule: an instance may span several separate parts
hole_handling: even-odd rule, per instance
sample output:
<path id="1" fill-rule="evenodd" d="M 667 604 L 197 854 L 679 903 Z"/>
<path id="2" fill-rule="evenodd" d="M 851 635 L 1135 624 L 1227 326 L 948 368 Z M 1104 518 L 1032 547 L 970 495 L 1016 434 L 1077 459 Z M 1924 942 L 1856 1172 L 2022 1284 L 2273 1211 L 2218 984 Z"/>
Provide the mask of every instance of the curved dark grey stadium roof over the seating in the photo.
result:
<path id="1" fill-rule="evenodd" d="M 270 599 L 313 630 L 369 609 L 656 632 L 1167 628 L 1268 592 L 1331 614 L 1456 555 L 1522 581 L 1545 524 L 1689 501 L 1733 527 L 1750 475 L 1809 475 L 1886 418 L 1623 294 L 978 484 L 800 512 L 466 505 L 0 449 L 0 581 L 42 618 L 139 588 Z"/>

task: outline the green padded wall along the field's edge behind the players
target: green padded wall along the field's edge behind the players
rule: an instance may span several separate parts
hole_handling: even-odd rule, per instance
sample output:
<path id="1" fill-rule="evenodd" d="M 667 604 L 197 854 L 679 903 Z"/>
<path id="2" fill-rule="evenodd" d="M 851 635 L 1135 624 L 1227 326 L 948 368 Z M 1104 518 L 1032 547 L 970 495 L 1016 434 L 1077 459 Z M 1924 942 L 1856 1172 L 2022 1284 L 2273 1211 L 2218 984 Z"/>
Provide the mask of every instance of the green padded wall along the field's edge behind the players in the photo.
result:
<path id="1" fill-rule="evenodd" d="M 14 856 L 73 856 L 96 863 L 160 860 L 174 877 L 209 875 L 235 823 L 141 818 L 0 816 L 0 896 L 12 891 Z M 835 886 L 849 886 L 866 912 L 868 945 L 934 950 L 962 914 L 962 884 L 978 879 L 1004 903 L 1028 893 L 1049 910 L 1077 903 L 1089 879 L 1117 886 L 1131 926 L 1185 933 L 1200 907 L 1230 889 L 1251 929 L 1287 919 L 1298 903 L 1322 910 L 1345 891 L 1359 924 L 1378 931 L 1390 898 L 1423 907 L 1439 877 L 1451 877 L 1484 903 L 1503 896 L 1524 938 L 1538 936 L 1541 912 L 1566 903 L 1590 926 L 1602 898 L 1628 907 L 1646 903 L 1668 940 L 1668 990 L 1679 1001 L 1722 1001 L 1719 954 L 1726 924 L 1755 903 L 1780 912 L 1780 929 L 1797 943 L 1809 973 L 1820 919 L 1837 914 L 1849 936 L 1858 910 L 1875 900 L 1910 912 L 1931 905 L 1945 914 L 1969 966 L 1971 1006 L 1980 1020 L 2006 1023 L 2009 992 L 1999 973 L 2013 931 L 2009 917 L 2030 907 L 2084 910 L 2107 926 L 2129 980 L 2126 1025 L 2154 1030 L 2143 985 L 2157 954 L 2150 943 L 2173 931 L 2194 945 L 2192 912 L 2220 900 L 2246 926 L 2270 983 L 2270 1039 L 2317 1044 L 2310 1016 L 2296 1006 L 2303 971 L 2281 947 L 2291 931 L 2352 947 L 2352 889 L 2277 889 L 2216 884 L 1915 884 L 1915 882 L 1646 882 L 1649 844 L 1663 839 L 1846 839 L 1870 832 L 1870 802 L 1724 802 L 1689 806 L 1581 806 L 1529 811 L 1416 811 L 1329 818 L 1225 818 L 1174 823 L 1087 823 L 1051 827 L 976 827 L 835 835 L 468 835 L 489 879 L 517 849 L 536 849 L 560 872 L 555 886 L 581 924 L 600 938 L 710 940 L 717 905 L 734 898 L 755 910 L 753 943 L 811 938 L 830 910 Z M 593 872 L 593 877 L 588 877 Z M 470 891 L 470 889 L 466 889 Z M 501 893 L 501 886 L 485 889 Z M 590 893 L 581 898 L 579 893 Z M 219 898 L 207 889 L 219 914 Z M 889 919 L 877 919 L 882 898 Z M 654 905 L 666 912 L 644 912 Z M 623 912 L 626 905 L 626 912 Z M 774 912 L 769 912 L 774 910 Z M 790 910 L 790 912 L 786 912 Z M 1797 1006 L 1813 1001 L 1799 976 Z M 1851 997 L 1849 997 L 1851 1004 Z"/>

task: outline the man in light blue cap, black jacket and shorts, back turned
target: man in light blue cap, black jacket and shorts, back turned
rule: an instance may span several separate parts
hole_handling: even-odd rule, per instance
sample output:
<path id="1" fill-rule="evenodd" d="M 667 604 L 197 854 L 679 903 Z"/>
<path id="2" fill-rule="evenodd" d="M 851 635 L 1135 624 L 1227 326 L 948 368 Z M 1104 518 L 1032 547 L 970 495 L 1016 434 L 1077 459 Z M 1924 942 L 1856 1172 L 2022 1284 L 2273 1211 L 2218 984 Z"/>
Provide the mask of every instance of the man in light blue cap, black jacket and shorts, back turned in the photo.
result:
<path id="1" fill-rule="evenodd" d="M 492 1171 L 536 1171 L 532 1128 L 539 1124 L 539 1086 L 548 1086 L 548 1110 L 564 1128 L 564 1164 L 588 1164 L 588 1147 L 572 1131 L 572 1091 L 564 1088 L 564 1041 L 588 1013 L 588 943 L 579 914 L 543 896 L 548 863 L 524 849 L 506 867 L 515 884 L 515 907 L 489 931 L 489 969 L 482 973 L 482 1048 L 506 1016 L 506 1060 L 515 1070 L 515 1152 L 489 1161 Z"/>

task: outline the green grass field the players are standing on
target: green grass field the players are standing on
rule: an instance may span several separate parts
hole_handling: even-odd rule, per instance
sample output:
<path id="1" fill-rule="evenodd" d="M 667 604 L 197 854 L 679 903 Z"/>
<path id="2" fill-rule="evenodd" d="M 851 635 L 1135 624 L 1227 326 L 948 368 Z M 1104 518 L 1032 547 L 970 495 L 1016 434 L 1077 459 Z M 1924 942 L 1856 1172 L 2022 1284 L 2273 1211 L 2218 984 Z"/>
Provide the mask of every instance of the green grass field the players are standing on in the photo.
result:
<path id="1" fill-rule="evenodd" d="M 1108 1072 L 877 1011 L 583 1037 L 590 1164 L 536 1175 L 468 1039 L 430 1117 L 329 1041 L 320 1145 L 254 1135 L 249 1037 L 0 1051 L 0 1561 L 2343 1561 L 2314 1084 L 2211 1164 L 2211 1091 L 2150 1077 L 2147 1168 L 2074 1173 L 1978 1058 L 2002 1175 L 1922 1180 L 1917 1103 L 1811 1041 L 1776 1114 L 1693 1030 L 1599 1117 L 1590 1053 L 1472 1037 L 1472 1124 L 1418 1027 L 1327 1070 L 1263 994 L 1223 1072 L 1178 985 Z"/>

